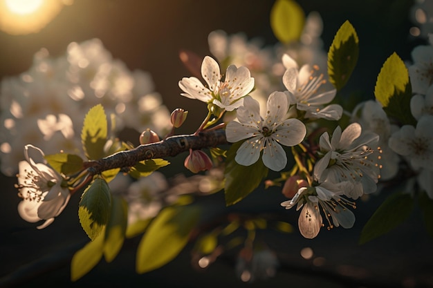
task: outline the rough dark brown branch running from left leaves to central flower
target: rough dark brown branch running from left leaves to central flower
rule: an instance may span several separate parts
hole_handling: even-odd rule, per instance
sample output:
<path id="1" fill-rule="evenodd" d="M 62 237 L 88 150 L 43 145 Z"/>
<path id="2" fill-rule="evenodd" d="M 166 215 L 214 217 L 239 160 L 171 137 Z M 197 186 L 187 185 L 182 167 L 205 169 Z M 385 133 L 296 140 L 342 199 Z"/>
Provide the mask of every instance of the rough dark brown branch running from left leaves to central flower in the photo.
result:
<path id="1" fill-rule="evenodd" d="M 128 169 L 140 161 L 176 156 L 182 152 L 228 144 L 225 130 L 203 131 L 198 135 L 176 135 L 160 142 L 143 144 L 128 151 L 120 151 L 100 160 L 86 162 L 91 175 L 110 169 Z"/>

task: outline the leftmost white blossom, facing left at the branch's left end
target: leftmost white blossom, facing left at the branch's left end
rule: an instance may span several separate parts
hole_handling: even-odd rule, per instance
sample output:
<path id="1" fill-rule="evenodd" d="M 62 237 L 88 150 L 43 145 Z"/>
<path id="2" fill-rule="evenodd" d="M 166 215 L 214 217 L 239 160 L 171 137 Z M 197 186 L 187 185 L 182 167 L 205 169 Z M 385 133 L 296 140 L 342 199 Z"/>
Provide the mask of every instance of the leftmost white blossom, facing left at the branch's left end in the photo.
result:
<path id="1" fill-rule="evenodd" d="M 51 169 L 44 153 L 33 145 L 24 147 L 26 161 L 19 162 L 17 188 L 23 198 L 18 204 L 21 218 L 28 222 L 45 220 L 38 229 L 47 227 L 62 213 L 71 194 L 64 177 Z"/>

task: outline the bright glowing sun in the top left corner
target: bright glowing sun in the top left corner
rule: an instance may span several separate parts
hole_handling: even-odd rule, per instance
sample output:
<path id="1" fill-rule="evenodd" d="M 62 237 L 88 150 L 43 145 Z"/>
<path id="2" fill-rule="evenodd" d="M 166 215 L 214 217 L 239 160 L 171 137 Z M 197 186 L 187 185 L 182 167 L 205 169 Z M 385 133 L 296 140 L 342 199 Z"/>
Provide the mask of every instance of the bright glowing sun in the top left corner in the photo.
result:
<path id="1" fill-rule="evenodd" d="M 73 0 L 0 0 L 0 30 L 11 35 L 39 32 Z"/>

